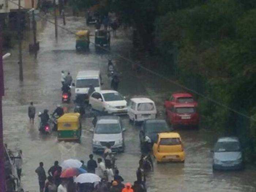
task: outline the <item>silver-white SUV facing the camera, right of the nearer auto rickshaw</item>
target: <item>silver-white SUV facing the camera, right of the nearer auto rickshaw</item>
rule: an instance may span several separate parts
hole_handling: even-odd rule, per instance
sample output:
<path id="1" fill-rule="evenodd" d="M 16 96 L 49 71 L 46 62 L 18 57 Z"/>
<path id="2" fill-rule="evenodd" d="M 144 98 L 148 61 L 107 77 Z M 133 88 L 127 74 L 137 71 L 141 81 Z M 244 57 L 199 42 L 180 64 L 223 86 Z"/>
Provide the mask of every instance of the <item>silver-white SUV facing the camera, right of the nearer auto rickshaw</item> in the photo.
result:
<path id="1" fill-rule="evenodd" d="M 102 116 L 98 118 L 93 134 L 93 153 L 103 152 L 107 143 L 112 151 L 124 151 L 123 125 L 118 116 Z"/>

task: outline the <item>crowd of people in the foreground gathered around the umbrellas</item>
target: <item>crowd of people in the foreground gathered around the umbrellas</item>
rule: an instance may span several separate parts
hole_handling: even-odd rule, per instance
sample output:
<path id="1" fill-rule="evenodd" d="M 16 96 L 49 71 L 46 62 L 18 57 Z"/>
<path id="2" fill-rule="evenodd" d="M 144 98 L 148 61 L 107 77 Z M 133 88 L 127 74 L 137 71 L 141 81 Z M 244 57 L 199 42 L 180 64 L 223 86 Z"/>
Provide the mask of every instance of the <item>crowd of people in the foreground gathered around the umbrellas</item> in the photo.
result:
<path id="1" fill-rule="evenodd" d="M 110 150 L 110 151 L 109 151 Z M 44 169 L 44 163 L 40 162 L 35 170 L 38 175 L 40 192 L 146 192 L 145 179 L 142 180 L 142 172 L 137 170 L 137 180 L 131 183 L 123 184 L 124 179 L 119 174 L 117 168 L 113 168 L 113 164 L 108 158 L 111 149 L 107 148 L 103 158 L 94 160 L 93 154 L 89 155 L 89 161 L 85 163 L 81 160 L 82 169 L 87 173 L 97 174 L 100 182 L 95 183 L 75 183 L 74 177 L 61 178 L 62 167 L 59 162 L 55 161 L 54 165 L 48 170 L 48 176 Z M 105 162 L 103 162 L 103 160 Z"/>

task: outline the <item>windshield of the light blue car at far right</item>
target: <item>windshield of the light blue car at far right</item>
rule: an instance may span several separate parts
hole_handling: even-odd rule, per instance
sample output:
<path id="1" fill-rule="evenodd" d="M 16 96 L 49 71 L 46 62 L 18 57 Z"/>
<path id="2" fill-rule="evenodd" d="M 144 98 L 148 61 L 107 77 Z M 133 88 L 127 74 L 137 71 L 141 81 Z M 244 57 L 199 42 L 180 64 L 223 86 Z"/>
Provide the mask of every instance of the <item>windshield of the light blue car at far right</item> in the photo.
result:
<path id="1" fill-rule="evenodd" d="M 238 152 L 241 151 L 239 142 L 218 142 L 215 152 Z"/>

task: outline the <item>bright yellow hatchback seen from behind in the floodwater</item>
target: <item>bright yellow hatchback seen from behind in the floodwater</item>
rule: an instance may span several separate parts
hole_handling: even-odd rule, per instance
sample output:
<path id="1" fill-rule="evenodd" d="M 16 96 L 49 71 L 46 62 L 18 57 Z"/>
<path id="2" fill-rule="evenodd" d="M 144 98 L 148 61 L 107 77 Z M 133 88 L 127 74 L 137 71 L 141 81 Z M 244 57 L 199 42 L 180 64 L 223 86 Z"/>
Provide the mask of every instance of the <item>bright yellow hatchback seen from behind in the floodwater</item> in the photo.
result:
<path id="1" fill-rule="evenodd" d="M 153 145 L 153 154 L 157 162 L 184 162 L 185 152 L 178 133 L 158 133 Z"/>

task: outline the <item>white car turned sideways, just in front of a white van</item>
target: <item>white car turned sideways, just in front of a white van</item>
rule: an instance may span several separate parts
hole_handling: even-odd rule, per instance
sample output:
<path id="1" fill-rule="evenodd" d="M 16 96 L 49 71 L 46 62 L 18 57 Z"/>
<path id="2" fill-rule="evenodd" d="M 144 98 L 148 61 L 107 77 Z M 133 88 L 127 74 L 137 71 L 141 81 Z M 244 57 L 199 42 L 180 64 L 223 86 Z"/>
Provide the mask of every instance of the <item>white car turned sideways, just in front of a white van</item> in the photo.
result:
<path id="1" fill-rule="evenodd" d="M 89 98 L 92 109 L 108 114 L 127 114 L 127 101 L 120 93 L 113 90 L 95 91 Z"/>

